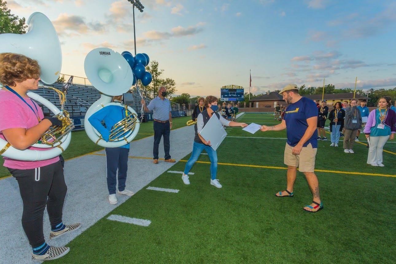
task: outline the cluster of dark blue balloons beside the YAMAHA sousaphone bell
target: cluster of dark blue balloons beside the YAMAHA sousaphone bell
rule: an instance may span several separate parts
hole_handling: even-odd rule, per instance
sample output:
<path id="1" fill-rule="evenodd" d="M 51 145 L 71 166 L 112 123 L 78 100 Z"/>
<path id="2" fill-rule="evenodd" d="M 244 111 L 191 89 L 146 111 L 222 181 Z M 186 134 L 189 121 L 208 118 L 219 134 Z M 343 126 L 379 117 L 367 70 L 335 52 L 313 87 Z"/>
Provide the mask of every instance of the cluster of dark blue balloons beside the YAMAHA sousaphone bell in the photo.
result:
<path id="1" fill-rule="evenodd" d="M 149 85 L 152 81 L 152 76 L 150 72 L 146 72 L 146 66 L 150 62 L 148 55 L 146 53 L 137 53 L 135 57 L 133 57 L 132 53 L 129 51 L 123 51 L 121 55 L 128 61 L 129 66 L 131 66 L 133 72 L 132 85 L 135 85 L 137 80 L 141 80 L 144 86 Z"/>

